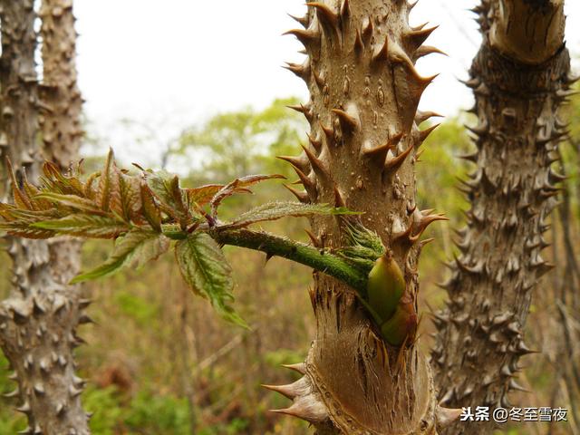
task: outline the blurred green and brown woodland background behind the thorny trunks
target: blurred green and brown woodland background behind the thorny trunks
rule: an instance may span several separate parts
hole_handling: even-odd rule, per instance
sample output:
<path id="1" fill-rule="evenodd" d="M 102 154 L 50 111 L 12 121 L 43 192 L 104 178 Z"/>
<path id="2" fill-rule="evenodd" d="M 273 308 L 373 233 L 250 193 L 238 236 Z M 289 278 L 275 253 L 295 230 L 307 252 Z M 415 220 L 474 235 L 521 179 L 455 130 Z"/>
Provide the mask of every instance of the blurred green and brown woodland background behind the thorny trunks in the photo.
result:
<path id="1" fill-rule="evenodd" d="M 250 173 L 294 176 L 278 155 L 295 154 L 305 142 L 306 122 L 286 105 L 295 99 L 276 100 L 264 111 L 247 108 L 219 113 L 202 125 L 159 143 L 160 167 L 186 168 L 191 185 L 228 181 Z M 580 433 L 580 353 L 572 342 L 580 317 L 580 270 L 577 264 L 580 223 L 580 101 L 566 109 L 571 134 L 562 147 L 559 172 L 565 181 L 562 203 L 552 215 L 550 256 L 556 270 L 538 287 L 527 325 L 528 342 L 540 354 L 527 357 L 521 383 L 529 391 L 518 393 L 522 406 L 569 409 L 571 433 Z M 133 140 L 155 140 L 155 129 L 136 121 L 120 121 Z M 458 158 L 471 149 L 467 115 L 448 118 L 429 139 L 418 165 L 420 208 L 444 211 L 449 222 L 430 228 L 435 242 L 420 261 L 423 317 L 422 345 L 430 348 L 433 326 L 430 309 L 440 308 L 445 293 L 444 261 L 453 257 L 454 229 L 462 226 L 467 208 L 460 180 L 469 162 Z M 102 164 L 95 150 L 108 144 L 86 140 L 87 172 Z M 159 149 L 158 149 L 159 150 Z M 104 152 L 104 151 L 103 151 Z M 128 167 L 131 161 L 122 161 Z M 232 215 L 271 199 L 292 199 L 282 183 L 266 183 L 252 197 L 230 198 L 224 210 Z M 307 240 L 305 220 L 287 219 L 267 226 L 270 231 Z M 84 245 L 84 268 L 102 262 L 111 245 Z M 86 409 L 93 412 L 92 433 L 112 434 L 305 434 L 307 426 L 280 418 L 268 409 L 285 406 L 286 400 L 260 387 L 260 382 L 287 383 L 295 373 L 282 363 L 300 362 L 314 336 L 314 316 L 306 291 L 310 270 L 280 258 L 267 264 L 265 257 L 239 248 L 228 248 L 237 281 L 237 308 L 252 331 L 230 326 L 210 305 L 195 298 L 182 282 L 172 256 L 164 256 L 140 272 L 115 275 L 84 286 L 96 301 L 89 314 L 96 325 L 84 326 L 89 345 L 77 350 L 79 370 L 89 381 L 83 393 Z M 4 256 L 4 254 L 3 254 Z M 0 297 L 9 291 L 10 264 L 0 262 Z M 430 309 L 428 308 L 430 307 Z M 0 357 L 0 392 L 9 391 L 7 363 Z M 0 399 L 0 433 L 16 433 L 24 418 Z M 506 433 L 564 433 L 550 423 L 522 424 Z"/>

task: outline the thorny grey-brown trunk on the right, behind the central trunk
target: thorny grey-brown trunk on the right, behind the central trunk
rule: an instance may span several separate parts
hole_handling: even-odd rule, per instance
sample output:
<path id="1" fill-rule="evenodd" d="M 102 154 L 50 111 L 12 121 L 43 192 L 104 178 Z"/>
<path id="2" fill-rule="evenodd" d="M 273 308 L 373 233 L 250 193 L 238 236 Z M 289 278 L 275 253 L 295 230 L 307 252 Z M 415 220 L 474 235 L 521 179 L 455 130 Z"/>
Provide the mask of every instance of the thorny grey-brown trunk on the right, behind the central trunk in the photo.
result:
<path id="1" fill-rule="evenodd" d="M 546 216 L 555 207 L 551 163 L 568 96 L 563 0 L 484 0 L 476 9 L 483 43 L 468 82 L 475 93 L 477 170 L 465 182 L 471 203 L 450 265 L 447 309 L 432 360 L 446 406 L 507 407 L 521 356 L 532 290 L 551 266 Z M 524 25 L 523 23 L 526 23 Z M 457 422 L 445 433 L 491 433 L 493 423 Z"/>

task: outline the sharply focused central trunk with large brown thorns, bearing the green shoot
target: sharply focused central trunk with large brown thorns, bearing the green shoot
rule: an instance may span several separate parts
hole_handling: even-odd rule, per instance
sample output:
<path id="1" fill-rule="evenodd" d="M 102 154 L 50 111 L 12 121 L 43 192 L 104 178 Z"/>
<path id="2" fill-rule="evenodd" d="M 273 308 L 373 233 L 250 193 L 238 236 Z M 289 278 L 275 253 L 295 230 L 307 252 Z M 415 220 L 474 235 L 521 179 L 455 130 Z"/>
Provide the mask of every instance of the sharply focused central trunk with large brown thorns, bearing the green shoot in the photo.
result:
<path id="1" fill-rule="evenodd" d="M 405 0 L 326 0 L 308 4 L 290 31 L 304 43 L 307 59 L 288 69 L 303 78 L 311 101 L 296 107 L 310 122 L 310 144 L 290 161 L 304 185 L 304 202 L 345 204 L 365 212 L 405 272 L 416 305 L 420 233 L 439 215 L 415 203 L 414 164 L 430 117 L 417 111 L 432 81 L 414 68 L 436 52 L 423 46 L 433 29 L 411 28 Z M 420 151 L 419 151 L 420 152 Z M 312 222 L 319 247 L 343 243 L 338 221 Z M 402 352 L 377 338 L 353 290 L 314 275 L 311 293 L 317 333 L 304 377 L 270 387 L 294 400 L 283 412 L 311 421 L 320 434 L 436 433 L 437 406 L 430 366 L 416 343 Z M 440 411 L 440 422 L 447 420 Z"/>

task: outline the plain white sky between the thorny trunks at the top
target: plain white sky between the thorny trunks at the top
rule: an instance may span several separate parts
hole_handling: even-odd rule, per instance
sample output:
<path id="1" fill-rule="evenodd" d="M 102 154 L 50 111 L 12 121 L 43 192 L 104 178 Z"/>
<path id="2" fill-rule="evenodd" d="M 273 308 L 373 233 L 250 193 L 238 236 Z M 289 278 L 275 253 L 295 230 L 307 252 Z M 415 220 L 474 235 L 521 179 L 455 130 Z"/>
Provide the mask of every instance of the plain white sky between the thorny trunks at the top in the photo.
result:
<path id="1" fill-rule="evenodd" d="M 440 24 L 429 43 L 449 54 L 428 56 L 423 75 L 440 73 L 423 109 L 454 114 L 469 91 L 457 81 L 479 43 L 468 9 L 478 0 L 421 0 L 411 24 Z M 282 36 L 297 25 L 299 0 L 77 0 L 78 69 L 90 131 L 122 157 L 159 163 L 163 142 L 219 111 L 263 108 L 276 97 L 306 98 L 304 82 L 280 68 L 298 61 L 301 45 Z M 580 53 L 580 2 L 567 0 L 567 42 Z M 155 139 L 137 143 L 118 120 L 128 118 Z M 143 133 L 144 134 L 144 133 Z"/>

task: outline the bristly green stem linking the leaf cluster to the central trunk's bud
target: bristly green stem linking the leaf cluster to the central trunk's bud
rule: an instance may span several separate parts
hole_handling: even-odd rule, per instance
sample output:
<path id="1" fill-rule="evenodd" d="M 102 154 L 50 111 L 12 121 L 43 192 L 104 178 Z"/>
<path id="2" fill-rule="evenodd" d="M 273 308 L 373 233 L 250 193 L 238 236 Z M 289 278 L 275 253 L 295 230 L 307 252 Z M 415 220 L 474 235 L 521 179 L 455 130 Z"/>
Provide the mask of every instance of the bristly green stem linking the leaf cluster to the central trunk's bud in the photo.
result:
<path id="1" fill-rule="evenodd" d="M 289 238 L 248 229 L 213 230 L 210 234 L 222 245 L 247 247 L 265 252 L 269 256 L 282 256 L 331 275 L 359 292 L 364 292 L 366 289 L 367 275 L 342 258 L 333 256 L 322 249 L 310 247 Z"/>

